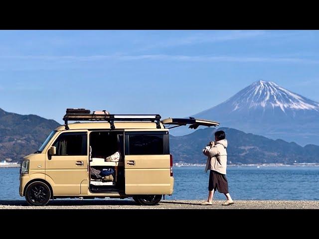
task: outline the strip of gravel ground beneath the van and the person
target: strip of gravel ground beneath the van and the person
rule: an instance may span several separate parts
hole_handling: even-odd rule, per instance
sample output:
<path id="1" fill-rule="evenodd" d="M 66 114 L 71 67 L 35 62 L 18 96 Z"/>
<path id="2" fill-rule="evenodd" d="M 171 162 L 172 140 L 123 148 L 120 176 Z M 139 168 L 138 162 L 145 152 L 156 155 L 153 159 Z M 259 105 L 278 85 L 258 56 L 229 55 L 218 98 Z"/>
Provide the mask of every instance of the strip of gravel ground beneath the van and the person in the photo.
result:
<path id="1" fill-rule="evenodd" d="M 31 207 L 25 201 L 0 200 L 0 209 L 319 209 L 319 201 L 234 201 L 222 206 L 223 201 L 213 205 L 199 205 L 195 200 L 162 200 L 156 206 L 138 206 L 133 200 L 51 200 L 44 207 Z"/>

